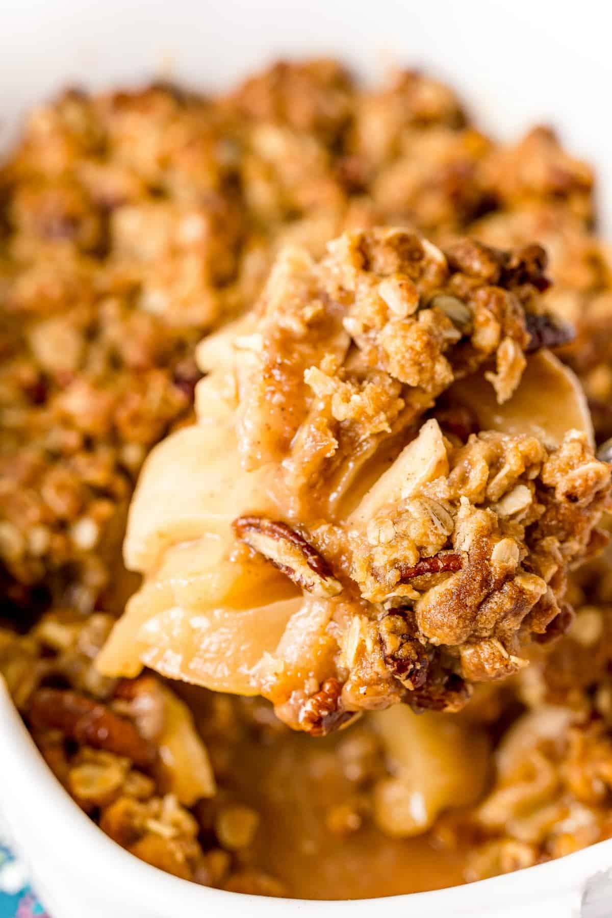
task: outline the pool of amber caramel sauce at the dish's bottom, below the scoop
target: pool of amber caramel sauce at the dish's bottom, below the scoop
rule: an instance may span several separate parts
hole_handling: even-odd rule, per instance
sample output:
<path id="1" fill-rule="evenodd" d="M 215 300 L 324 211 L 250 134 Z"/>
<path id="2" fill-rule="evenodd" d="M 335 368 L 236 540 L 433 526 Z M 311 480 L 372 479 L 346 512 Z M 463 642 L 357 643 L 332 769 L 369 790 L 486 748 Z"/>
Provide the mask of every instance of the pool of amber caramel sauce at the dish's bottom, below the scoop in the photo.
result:
<path id="1" fill-rule="evenodd" d="M 350 834 L 328 828 L 329 812 L 355 794 L 337 751 L 343 735 L 313 739 L 286 731 L 270 744 L 244 739 L 234 747 L 220 786 L 260 813 L 253 866 L 298 899 L 363 899 L 461 884 L 462 856 L 436 847 L 428 835 L 390 838 L 368 817 Z"/>

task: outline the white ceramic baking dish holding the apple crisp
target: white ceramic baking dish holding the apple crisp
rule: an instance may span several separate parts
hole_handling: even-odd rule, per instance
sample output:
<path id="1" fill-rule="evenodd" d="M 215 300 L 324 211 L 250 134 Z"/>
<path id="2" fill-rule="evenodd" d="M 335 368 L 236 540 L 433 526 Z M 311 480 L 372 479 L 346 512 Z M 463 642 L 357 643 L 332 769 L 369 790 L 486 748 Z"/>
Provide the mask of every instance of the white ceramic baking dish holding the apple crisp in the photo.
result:
<path id="1" fill-rule="evenodd" d="M 366 78 L 393 64 L 418 65 L 449 79 L 498 136 L 534 122 L 558 127 L 573 151 L 595 162 L 602 215 L 612 226 L 612 130 L 603 107 L 612 84 L 610 17 L 600 0 L 5 0 L 0 8 L 4 143 L 25 108 L 65 84 L 165 75 L 215 88 L 274 57 L 313 53 L 337 56 Z M 64 793 L 1 685 L 0 811 L 53 918 L 374 918 L 390 907 L 239 896 L 141 863 Z M 510 876 L 396 897 L 391 907 L 411 918 L 603 918 L 612 914 L 607 868 L 612 841 Z"/>

